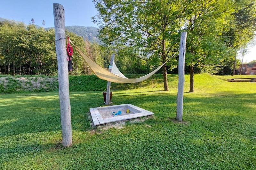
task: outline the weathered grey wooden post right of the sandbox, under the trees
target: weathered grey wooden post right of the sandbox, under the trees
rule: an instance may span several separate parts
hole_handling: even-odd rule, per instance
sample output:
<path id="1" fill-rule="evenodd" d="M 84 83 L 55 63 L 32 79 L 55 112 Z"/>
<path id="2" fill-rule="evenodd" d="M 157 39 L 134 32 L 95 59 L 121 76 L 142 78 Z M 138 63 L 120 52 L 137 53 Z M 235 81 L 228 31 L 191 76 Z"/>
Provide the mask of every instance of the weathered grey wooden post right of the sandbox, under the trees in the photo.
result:
<path id="1" fill-rule="evenodd" d="M 176 119 L 182 121 L 183 115 L 183 92 L 185 82 L 185 54 L 186 54 L 187 32 L 180 35 L 180 52 L 179 52 L 179 83 L 177 94 L 177 114 Z"/>

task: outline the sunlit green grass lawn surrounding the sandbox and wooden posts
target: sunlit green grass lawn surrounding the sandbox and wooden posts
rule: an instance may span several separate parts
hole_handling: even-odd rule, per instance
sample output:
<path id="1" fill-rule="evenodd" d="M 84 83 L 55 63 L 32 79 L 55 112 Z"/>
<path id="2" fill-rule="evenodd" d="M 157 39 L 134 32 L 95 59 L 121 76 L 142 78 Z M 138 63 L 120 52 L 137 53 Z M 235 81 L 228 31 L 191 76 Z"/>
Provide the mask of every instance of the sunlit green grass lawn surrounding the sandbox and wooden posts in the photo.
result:
<path id="1" fill-rule="evenodd" d="M 113 92 L 113 104 L 154 112 L 122 129 L 93 128 L 102 91 L 70 92 L 73 145 L 61 146 L 58 92 L 0 95 L 0 169 L 255 169 L 256 83 L 186 75 L 185 122 L 176 116 L 177 75 L 163 87 Z M 226 77 L 224 77 L 226 78 Z"/>

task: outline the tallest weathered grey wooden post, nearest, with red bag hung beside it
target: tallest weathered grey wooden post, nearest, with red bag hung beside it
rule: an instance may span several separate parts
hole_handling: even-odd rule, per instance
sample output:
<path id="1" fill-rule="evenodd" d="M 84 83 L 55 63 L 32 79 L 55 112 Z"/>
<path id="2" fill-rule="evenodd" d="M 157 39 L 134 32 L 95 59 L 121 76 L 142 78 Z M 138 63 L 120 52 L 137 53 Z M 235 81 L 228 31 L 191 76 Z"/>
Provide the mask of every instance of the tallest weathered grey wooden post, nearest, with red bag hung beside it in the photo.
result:
<path id="1" fill-rule="evenodd" d="M 65 39 L 65 17 L 64 8 L 61 4 L 53 4 L 53 17 L 56 39 L 56 55 L 58 62 L 62 145 L 64 147 L 68 147 L 72 145 L 72 128 L 69 101 L 68 61 Z"/>

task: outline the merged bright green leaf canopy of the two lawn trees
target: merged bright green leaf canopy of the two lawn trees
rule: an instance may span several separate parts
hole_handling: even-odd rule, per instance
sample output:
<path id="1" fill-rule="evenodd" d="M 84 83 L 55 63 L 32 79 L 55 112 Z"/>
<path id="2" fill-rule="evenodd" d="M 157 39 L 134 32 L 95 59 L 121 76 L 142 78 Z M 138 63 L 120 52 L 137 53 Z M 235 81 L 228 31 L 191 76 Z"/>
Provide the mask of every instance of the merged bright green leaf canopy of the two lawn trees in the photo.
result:
<path id="1" fill-rule="evenodd" d="M 122 61 L 118 66 L 126 73 L 130 71 L 127 63 L 136 62 L 151 70 L 170 58 L 179 50 L 182 31 L 188 32 L 186 65 L 200 69 L 230 61 L 230 57 L 236 55 L 236 49 L 229 45 L 232 38 L 227 35 L 231 29 L 236 29 L 233 23 L 239 23 L 237 20 L 240 17 L 243 21 L 240 27 L 247 30 L 253 26 L 256 16 L 254 2 L 247 0 L 94 0 L 94 3 L 99 14 L 92 19 L 100 26 L 99 37 L 119 50 Z M 248 13 L 242 15 L 245 12 Z M 249 14 L 252 15 L 250 18 Z M 246 18 L 248 21 L 245 21 Z M 253 31 L 250 38 L 252 34 Z M 137 58 L 147 63 L 140 63 Z M 229 64 L 222 62 L 215 73 L 222 70 L 221 74 L 229 74 L 227 67 L 230 65 L 223 66 L 225 63 Z M 136 71 L 144 72 L 143 67 Z M 177 68 L 177 59 L 173 58 L 168 68 Z M 224 73 L 225 70 L 228 72 Z"/>

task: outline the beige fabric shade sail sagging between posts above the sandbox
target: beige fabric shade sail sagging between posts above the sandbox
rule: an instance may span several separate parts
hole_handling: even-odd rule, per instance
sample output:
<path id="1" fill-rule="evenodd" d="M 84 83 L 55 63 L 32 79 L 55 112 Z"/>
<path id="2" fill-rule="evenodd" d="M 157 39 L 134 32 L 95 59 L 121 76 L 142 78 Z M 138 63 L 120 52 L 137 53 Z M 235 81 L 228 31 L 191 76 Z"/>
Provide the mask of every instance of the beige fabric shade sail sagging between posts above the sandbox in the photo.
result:
<path id="1" fill-rule="evenodd" d="M 116 64 L 113 62 L 113 66 L 115 65 L 114 72 L 109 72 L 108 70 L 101 67 L 99 64 L 95 63 L 90 57 L 88 57 L 86 54 L 84 54 L 76 45 L 70 40 L 71 44 L 74 45 L 74 47 L 77 49 L 77 51 L 83 56 L 85 62 L 89 65 L 89 67 L 92 69 L 92 71 L 96 74 L 96 76 L 100 79 L 107 80 L 114 83 L 137 83 L 140 81 L 144 81 L 151 77 L 153 74 L 156 73 L 161 67 L 164 66 L 171 58 L 169 58 L 165 63 L 160 65 L 156 70 L 152 71 L 151 73 L 148 73 L 145 76 L 142 76 L 140 78 L 126 78 L 120 70 L 116 67 Z M 176 53 L 175 53 L 176 54 Z M 174 55 L 175 55 L 174 54 Z M 174 56 L 172 55 L 172 56 Z M 112 69 L 113 71 L 113 69 Z M 115 73 L 115 74 L 114 74 Z M 121 74 L 120 74 L 121 73 Z"/>

